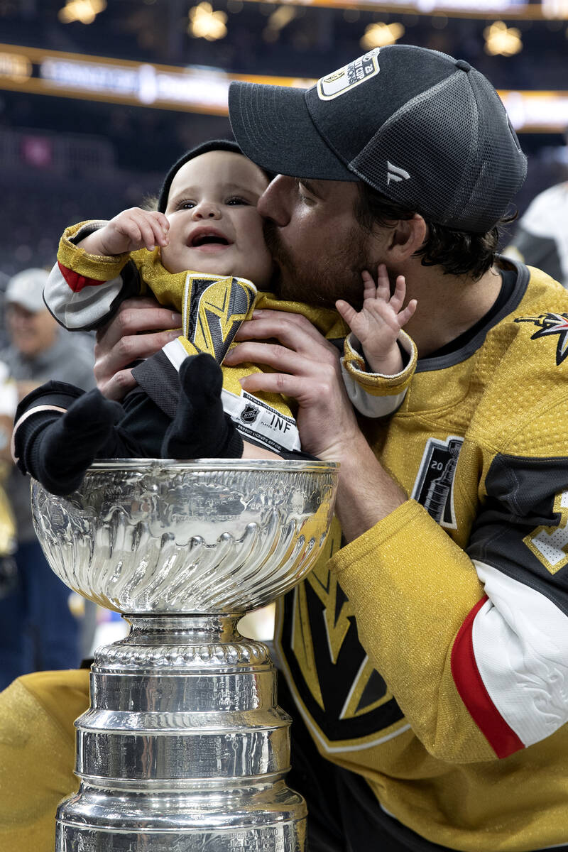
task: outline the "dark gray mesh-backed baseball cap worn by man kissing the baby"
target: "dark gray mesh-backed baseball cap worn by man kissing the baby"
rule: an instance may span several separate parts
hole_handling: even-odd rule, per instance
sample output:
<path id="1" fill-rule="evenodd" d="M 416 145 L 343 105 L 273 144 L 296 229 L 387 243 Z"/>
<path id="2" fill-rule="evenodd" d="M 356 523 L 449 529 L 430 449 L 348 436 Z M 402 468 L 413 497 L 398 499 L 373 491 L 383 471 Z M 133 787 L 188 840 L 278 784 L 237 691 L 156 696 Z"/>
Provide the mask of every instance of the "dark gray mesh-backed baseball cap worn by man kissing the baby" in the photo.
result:
<path id="1" fill-rule="evenodd" d="M 371 50 L 310 89 L 231 83 L 229 116 L 243 153 L 266 170 L 364 181 L 459 230 L 490 230 L 525 180 L 489 80 L 413 45 Z"/>

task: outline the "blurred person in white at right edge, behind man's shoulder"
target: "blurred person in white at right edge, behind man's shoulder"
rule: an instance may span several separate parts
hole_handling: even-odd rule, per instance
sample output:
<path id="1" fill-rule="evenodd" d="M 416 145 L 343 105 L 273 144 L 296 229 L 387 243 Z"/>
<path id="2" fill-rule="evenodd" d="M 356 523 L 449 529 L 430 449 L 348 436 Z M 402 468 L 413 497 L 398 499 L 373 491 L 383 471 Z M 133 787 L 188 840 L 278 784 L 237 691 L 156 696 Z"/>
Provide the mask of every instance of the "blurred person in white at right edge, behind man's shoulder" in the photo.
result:
<path id="1" fill-rule="evenodd" d="M 502 253 L 542 269 L 568 288 L 568 181 L 536 195 Z"/>

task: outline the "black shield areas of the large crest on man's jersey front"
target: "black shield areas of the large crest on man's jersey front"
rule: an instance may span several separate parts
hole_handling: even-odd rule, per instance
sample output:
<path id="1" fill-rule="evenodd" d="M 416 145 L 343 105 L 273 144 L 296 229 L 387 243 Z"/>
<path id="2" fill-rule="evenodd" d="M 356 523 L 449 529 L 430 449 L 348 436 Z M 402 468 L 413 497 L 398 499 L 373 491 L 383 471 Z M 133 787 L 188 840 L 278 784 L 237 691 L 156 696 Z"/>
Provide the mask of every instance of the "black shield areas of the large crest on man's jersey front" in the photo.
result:
<path id="1" fill-rule="evenodd" d="M 309 583 L 304 583 L 309 612 L 309 630 L 313 642 L 314 658 L 318 665 L 318 683 L 324 700 L 324 710 L 313 697 L 309 684 L 304 679 L 301 668 L 296 662 L 292 650 L 293 607 L 295 606 L 294 592 L 284 597 L 284 618 L 282 629 L 282 646 L 286 662 L 295 688 L 300 695 L 307 711 L 318 725 L 324 736 L 330 740 L 358 740 L 371 734 L 380 735 L 382 730 L 389 728 L 394 722 L 403 718 L 403 713 L 395 699 L 389 699 L 368 712 L 350 718 L 341 718 L 341 711 L 346 703 L 353 683 L 365 659 L 364 648 L 359 642 L 355 617 L 349 618 L 349 629 L 345 636 L 336 662 L 330 658 L 330 648 L 324 624 L 324 605 Z M 340 593 L 338 587 L 338 594 Z M 370 694 L 372 692 L 372 694 Z M 387 687 L 378 672 L 373 672 L 361 697 L 360 704 L 371 705 L 382 698 Z M 363 709 L 363 708 L 362 708 Z"/>

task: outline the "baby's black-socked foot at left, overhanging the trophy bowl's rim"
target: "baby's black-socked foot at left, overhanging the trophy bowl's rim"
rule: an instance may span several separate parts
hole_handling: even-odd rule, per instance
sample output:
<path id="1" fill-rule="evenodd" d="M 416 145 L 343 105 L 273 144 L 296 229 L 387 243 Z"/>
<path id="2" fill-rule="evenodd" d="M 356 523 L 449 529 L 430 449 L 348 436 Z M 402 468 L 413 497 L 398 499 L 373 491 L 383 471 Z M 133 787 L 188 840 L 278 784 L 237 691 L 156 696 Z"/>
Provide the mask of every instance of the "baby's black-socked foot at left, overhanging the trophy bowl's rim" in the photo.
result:
<path id="1" fill-rule="evenodd" d="M 60 496 L 75 491 L 97 454 L 109 443 L 123 406 L 90 390 L 64 414 L 33 412 L 14 435 L 20 469 Z"/>

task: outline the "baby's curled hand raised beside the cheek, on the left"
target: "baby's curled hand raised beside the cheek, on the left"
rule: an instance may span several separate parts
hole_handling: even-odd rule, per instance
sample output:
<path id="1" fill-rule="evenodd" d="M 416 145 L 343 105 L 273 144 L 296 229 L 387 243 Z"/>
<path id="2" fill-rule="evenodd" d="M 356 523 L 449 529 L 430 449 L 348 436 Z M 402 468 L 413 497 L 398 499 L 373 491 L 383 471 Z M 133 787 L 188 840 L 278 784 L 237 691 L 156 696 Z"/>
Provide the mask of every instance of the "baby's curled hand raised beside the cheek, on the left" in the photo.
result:
<path id="1" fill-rule="evenodd" d="M 168 231 L 169 222 L 164 213 L 130 207 L 107 222 L 105 227 L 89 233 L 79 245 L 91 255 L 121 255 L 124 251 L 144 248 L 152 251 L 157 245 L 168 245 Z"/>

